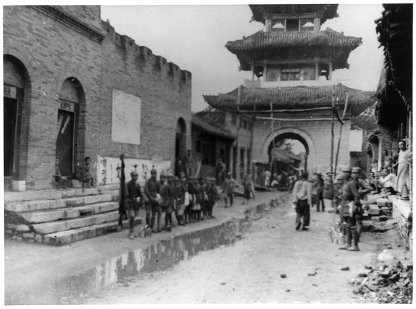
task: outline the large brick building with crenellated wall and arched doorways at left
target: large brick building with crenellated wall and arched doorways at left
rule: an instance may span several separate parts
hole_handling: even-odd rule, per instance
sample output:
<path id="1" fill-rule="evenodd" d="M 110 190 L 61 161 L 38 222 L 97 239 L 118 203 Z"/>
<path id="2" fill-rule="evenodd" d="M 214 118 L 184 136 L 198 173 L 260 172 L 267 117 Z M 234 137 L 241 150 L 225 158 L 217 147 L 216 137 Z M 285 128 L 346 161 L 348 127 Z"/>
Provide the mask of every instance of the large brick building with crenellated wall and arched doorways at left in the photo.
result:
<path id="1" fill-rule="evenodd" d="M 100 184 L 173 167 L 191 142 L 191 73 L 116 33 L 100 6 L 3 8 L 6 186 L 55 186 L 92 158 Z"/>

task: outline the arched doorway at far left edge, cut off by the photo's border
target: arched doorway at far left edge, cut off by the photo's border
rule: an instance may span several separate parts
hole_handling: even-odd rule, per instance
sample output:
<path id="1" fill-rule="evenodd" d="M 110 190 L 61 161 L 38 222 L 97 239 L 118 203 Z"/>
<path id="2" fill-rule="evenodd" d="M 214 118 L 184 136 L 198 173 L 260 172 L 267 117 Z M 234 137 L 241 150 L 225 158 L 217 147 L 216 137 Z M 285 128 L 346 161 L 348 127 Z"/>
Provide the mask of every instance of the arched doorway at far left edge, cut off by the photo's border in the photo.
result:
<path id="1" fill-rule="evenodd" d="M 20 178 L 21 122 L 30 94 L 31 80 L 24 64 L 12 55 L 3 55 L 3 162 L 5 184 L 8 179 Z"/>

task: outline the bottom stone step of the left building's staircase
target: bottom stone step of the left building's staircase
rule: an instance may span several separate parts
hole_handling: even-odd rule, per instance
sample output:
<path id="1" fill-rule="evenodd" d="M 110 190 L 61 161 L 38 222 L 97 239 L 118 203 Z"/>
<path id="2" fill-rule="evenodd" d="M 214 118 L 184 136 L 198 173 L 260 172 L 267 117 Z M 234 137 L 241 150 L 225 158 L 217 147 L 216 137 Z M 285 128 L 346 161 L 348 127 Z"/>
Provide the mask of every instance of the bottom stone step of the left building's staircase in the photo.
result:
<path id="1" fill-rule="evenodd" d="M 117 231 L 117 221 L 95 224 L 89 227 L 60 231 L 58 233 L 46 234 L 42 242 L 46 245 L 67 245 L 71 242 L 101 236 L 105 233 Z M 141 224 L 141 218 L 136 218 L 135 225 Z M 128 220 L 123 220 L 123 228 L 128 229 Z"/>

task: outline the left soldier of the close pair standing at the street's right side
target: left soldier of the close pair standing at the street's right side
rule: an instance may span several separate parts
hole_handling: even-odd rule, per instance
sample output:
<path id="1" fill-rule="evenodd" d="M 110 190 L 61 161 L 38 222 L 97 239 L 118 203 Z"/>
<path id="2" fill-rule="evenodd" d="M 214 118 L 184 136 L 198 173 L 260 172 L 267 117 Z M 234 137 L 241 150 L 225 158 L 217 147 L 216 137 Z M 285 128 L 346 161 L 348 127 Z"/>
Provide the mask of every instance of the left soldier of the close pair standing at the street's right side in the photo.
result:
<path id="1" fill-rule="evenodd" d="M 358 182 L 356 180 L 357 171 L 355 168 L 355 178 L 353 178 L 351 167 L 343 170 L 344 183 L 341 188 L 343 191 L 343 204 L 341 206 L 340 216 L 343 218 L 343 224 L 347 234 L 347 243 L 339 249 L 347 249 L 349 251 L 359 251 L 356 214 L 359 213 L 361 204 L 360 195 L 358 194 Z M 352 245 L 352 242 L 354 242 L 354 245 Z"/>

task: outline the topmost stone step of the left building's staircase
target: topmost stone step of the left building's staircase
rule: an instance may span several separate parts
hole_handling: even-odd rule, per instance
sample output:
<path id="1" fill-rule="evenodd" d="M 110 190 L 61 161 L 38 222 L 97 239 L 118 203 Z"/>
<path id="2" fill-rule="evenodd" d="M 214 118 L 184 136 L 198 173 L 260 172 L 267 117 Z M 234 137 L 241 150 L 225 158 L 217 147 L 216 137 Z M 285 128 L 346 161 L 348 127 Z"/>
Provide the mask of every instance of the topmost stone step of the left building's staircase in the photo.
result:
<path id="1" fill-rule="evenodd" d="M 26 192 L 5 192 L 4 204 L 33 200 L 58 200 L 62 198 L 78 197 L 85 195 L 98 195 L 99 188 L 76 188 L 71 190 L 44 190 Z"/>

